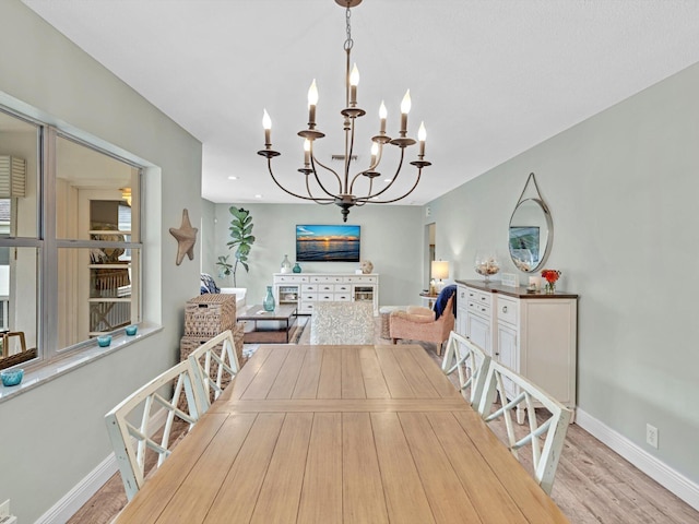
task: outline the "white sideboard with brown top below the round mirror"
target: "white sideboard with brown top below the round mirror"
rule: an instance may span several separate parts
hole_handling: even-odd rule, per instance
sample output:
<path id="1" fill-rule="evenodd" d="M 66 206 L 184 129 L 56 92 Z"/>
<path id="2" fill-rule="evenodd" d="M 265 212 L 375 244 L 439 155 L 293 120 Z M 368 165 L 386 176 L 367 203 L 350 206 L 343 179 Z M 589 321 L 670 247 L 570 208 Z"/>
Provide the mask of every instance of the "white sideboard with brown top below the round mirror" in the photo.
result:
<path id="1" fill-rule="evenodd" d="M 457 331 L 574 410 L 578 295 L 532 295 L 524 287 L 478 281 L 457 284 Z"/>

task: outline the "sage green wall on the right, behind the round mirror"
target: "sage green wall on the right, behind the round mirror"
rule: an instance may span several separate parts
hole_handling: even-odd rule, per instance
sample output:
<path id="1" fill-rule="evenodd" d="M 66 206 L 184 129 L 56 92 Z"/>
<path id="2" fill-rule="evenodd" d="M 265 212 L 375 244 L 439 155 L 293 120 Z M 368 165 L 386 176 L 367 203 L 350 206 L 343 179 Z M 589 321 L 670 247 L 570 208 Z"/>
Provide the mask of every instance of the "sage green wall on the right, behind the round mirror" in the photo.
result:
<path id="1" fill-rule="evenodd" d="M 697 93 L 699 64 L 429 204 L 453 275 L 478 278 L 475 251 L 507 253 L 510 214 L 536 174 L 555 227 L 546 266 L 580 295 L 580 408 L 695 483 Z M 507 271 L 518 273 L 511 263 Z M 659 450 L 645 444 L 647 422 L 659 428 Z"/>

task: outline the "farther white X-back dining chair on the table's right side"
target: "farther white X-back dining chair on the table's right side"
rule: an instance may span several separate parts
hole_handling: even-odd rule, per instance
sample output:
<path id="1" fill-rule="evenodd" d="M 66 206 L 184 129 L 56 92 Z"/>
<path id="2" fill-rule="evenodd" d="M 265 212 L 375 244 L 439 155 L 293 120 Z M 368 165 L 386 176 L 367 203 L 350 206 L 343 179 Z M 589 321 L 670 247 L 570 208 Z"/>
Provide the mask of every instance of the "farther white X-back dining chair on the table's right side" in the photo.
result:
<path id="1" fill-rule="evenodd" d="M 476 344 L 455 331 L 449 334 L 441 370 L 449 376 L 459 373 L 459 388 L 463 397 L 477 408 L 483 395 L 490 356 Z"/>

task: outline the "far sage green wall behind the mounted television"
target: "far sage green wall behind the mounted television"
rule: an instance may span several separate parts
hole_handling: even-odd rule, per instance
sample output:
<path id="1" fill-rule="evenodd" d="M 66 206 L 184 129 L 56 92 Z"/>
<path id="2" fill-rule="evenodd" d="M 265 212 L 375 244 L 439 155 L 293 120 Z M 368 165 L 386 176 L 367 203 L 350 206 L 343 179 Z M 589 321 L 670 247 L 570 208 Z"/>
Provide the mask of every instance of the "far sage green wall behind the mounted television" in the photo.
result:
<path id="1" fill-rule="evenodd" d="M 252 233 L 256 242 L 250 252 L 250 272 L 237 272 L 238 287 L 247 287 L 248 305 L 261 303 L 265 286 L 272 284 L 272 273 L 280 272 L 284 254 L 294 263 L 296 253 L 297 224 L 340 224 L 340 207 L 316 204 L 216 204 L 215 263 L 220 254 L 230 254 L 229 240 L 230 205 L 250 210 Z M 362 226 L 362 260 L 374 263 L 374 272 L 380 275 L 379 302 L 381 305 L 419 303 L 418 294 L 425 286 L 422 282 L 422 207 L 407 205 L 366 205 L 350 213 L 347 224 Z M 300 263 L 304 272 L 354 273 L 358 263 L 315 262 Z M 206 267 L 220 285 L 233 286 L 233 276 L 227 281 L 218 277 L 213 265 Z"/>

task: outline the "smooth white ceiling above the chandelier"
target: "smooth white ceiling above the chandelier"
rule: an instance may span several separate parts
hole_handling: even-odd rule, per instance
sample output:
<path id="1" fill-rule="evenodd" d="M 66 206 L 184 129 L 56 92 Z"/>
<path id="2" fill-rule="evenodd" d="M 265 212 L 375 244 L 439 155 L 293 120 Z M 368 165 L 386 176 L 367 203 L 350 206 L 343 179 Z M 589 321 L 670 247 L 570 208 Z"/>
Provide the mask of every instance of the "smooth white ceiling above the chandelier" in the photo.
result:
<path id="1" fill-rule="evenodd" d="M 204 144 L 205 199 L 298 202 L 256 152 L 266 108 L 275 175 L 303 191 L 296 132 L 312 79 L 328 135 L 316 155 L 344 153 L 345 13 L 334 0 L 23 1 Z M 365 0 L 352 35 L 367 110 L 355 153 L 368 162 L 381 99 L 398 134 L 410 87 L 408 134 L 425 121 L 433 166 L 401 203 L 423 204 L 699 62 L 699 1 Z M 384 155 L 387 175 L 394 159 Z"/>

